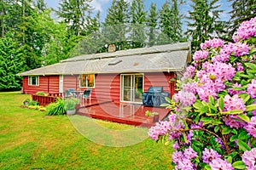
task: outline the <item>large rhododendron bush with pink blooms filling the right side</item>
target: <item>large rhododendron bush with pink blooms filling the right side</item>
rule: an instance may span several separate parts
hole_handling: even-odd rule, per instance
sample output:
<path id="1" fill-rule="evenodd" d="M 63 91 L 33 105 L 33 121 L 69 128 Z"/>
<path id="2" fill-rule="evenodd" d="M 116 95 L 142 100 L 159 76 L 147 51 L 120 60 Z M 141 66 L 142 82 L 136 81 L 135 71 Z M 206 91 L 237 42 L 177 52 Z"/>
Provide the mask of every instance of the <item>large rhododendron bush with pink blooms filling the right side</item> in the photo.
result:
<path id="1" fill-rule="evenodd" d="M 148 131 L 172 144 L 175 169 L 256 169 L 256 18 L 233 40 L 201 43 L 168 99 L 171 115 Z"/>

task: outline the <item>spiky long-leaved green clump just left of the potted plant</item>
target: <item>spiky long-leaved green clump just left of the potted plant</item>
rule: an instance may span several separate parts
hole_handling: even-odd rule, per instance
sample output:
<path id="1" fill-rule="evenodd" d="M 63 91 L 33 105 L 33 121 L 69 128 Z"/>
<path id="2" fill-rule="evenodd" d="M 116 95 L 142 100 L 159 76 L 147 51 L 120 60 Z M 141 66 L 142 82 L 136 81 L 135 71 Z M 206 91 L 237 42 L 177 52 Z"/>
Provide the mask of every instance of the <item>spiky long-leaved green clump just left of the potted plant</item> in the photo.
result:
<path id="1" fill-rule="evenodd" d="M 57 98 L 55 103 L 46 106 L 46 114 L 49 116 L 63 115 L 65 113 L 64 100 Z"/>

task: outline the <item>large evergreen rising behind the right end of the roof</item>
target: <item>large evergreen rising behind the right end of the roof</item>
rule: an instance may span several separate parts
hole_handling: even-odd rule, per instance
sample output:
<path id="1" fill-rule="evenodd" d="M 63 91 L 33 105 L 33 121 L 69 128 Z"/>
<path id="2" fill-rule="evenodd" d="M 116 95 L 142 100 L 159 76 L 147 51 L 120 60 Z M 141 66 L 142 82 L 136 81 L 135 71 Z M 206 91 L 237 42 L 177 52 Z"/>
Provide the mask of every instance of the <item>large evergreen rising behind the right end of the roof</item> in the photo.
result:
<path id="1" fill-rule="evenodd" d="M 192 38 L 192 51 L 200 48 L 200 43 L 212 37 L 221 37 L 224 32 L 224 21 L 219 20 L 223 10 L 219 0 L 191 0 L 192 11 L 189 11 L 188 30 L 185 32 Z"/>

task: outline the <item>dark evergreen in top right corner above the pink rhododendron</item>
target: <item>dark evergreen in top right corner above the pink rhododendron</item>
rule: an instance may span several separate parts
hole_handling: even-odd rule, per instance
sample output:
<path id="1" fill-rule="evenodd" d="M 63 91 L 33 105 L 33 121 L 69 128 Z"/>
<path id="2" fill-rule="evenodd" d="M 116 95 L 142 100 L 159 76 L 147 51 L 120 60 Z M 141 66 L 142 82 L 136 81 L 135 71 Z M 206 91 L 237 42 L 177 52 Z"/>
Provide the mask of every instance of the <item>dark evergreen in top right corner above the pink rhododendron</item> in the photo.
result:
<path id="1" fill-rule="evenodd" d="M 232 2 L 230 11 L 230 35 L 233 35 L 242 21 L 256 16 L 255 0 L 228 0 Z M 232 37 L 230 37 L 231 39 Z"/>

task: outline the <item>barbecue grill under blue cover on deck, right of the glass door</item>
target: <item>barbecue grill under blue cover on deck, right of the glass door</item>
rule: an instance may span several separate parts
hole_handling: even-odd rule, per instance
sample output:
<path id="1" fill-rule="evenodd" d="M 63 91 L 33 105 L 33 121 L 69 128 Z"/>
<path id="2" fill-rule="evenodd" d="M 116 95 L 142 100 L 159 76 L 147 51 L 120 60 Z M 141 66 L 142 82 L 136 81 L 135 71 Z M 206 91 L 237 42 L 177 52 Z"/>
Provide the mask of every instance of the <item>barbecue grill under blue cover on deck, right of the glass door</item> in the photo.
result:
<path id="1" fill-rule="evenodd" d="M 166 104 L 166 97 L 170 98 L 170 93 L 164 92 L 163 87 L 149 87 L 148 92 L 143 92 L 143 105 L 160 106 Z"/>

